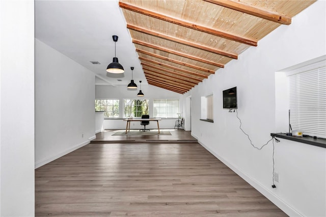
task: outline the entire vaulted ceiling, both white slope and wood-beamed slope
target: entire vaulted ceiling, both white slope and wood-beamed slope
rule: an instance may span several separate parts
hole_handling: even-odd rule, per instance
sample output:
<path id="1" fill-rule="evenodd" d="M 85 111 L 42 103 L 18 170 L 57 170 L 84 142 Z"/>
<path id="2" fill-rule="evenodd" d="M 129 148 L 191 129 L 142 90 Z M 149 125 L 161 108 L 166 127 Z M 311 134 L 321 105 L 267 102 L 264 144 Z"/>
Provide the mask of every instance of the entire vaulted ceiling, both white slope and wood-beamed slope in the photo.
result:
<path id="1" fill-rule="evenodd" d="M 127 89 L 134 67 L 138 85 L 142 80 L 142 86 L 182 94 L 241 59 L 244 50 L 255 49 L 278 26 L 287 28 L 293 16 L 314 2 L 36 0 L 35 37 L 93 72 L 97 86 Z M 115 55 L 113 35 L 119 36 L 122 74 L 106 72 Z"/>

